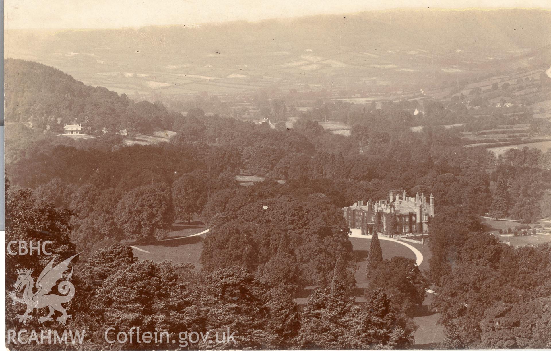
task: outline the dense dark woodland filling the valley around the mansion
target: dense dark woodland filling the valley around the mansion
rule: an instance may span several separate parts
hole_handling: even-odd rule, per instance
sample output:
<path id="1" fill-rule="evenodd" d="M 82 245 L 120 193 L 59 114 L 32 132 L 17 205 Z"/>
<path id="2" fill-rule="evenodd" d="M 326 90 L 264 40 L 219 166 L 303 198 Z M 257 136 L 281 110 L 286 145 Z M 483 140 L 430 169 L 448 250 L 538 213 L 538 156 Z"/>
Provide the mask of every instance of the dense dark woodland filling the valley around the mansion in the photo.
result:
<path id="1" fill-rule="evenodd" d="M 530 223 L 551 214 L 549 152 L 496 158 L 463 147 L 449 129 L 411 131 L 413 116 L 393 106 L 362 112 L 345 137 L 310 118 L 271 129 L 199 108 L 182 116 L 32 62 L 8 60 L 6 72 L 6 243 L 48 239 L 62 257 L 83 251 L 74 279 L 85 288 L 69 303 L 79 313 L 66 327 L 90 331 L 87 347 L 108 346 L 107 326 L 139 325 L 171 333 L 230 327 L 239 341 L 226 347 L 239 349 L 407 348 L 417 328 L 412 311 L 429 286 L 446 330 L 441 347 L 551 347 L 551 246 L 499 244 L 479 219 L 491 212 Z M 77 116 L 106 133 L 72 140 L 15 123 L 31 118 L 57 133 Z M 116 131 L 129 125 L 177 135 L 123 146 Z M 236 186 L 240 173 L 266 180 Z M 388 189 L 434 194 L 430 270 L 404 257 L 383 260 L 374 238 L 368 302 L 356 305 L 358 259 L 341 208 L 384 199 Z M 212 229 L 200 272 L 139 261 L 121 244 L 165 238 L 176 219 L 194 218 Z M 7 266 L 46 264 L 25 257 L 8 257 Z M 12 280 L 6 276 L 7 286 Z M 314 292 L 300 305 L 295 297 L 306 287 Z M 20 307 L 7 306 L 8 314 Z"/>

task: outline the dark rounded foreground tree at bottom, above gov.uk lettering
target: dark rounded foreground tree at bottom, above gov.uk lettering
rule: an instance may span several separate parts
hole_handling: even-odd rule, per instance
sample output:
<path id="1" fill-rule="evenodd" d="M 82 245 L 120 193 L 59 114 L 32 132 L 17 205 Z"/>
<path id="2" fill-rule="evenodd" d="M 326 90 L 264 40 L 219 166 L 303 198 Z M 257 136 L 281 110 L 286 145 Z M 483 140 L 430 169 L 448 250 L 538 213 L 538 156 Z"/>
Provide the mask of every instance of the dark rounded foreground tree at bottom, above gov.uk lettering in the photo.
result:
<path id="1" fill-rule="evenodd" d="M 270 300 L 269 293 L 244 267 L 225 267 L 214 271 L 193 290 L 193 303 L 182 306 L 185 308 L 182 312 L 195 322 L 194 325 L 188 324 L 185 330 L 197 328 L 195 330 L 210 331 L 206 341 L 199 341 L 198 349 L 215 347 L 215 331 L 220 334 L 228 328 L 235 332 L 235 343 L 218 344 L 219 348 L 278 348 L 274 344 L 281 348 L 288 341 L 280 338 L 291 337 L 297 330 L 298 306 L 288 296 L 277 293 L 272 297 L 282 300 Z M 274 321 L 285 321 L 287 324 L 275 325 L 271 321 L 272 315 Z M 285 331 L 282 330 L 284 326 L 295 329 Z"/>

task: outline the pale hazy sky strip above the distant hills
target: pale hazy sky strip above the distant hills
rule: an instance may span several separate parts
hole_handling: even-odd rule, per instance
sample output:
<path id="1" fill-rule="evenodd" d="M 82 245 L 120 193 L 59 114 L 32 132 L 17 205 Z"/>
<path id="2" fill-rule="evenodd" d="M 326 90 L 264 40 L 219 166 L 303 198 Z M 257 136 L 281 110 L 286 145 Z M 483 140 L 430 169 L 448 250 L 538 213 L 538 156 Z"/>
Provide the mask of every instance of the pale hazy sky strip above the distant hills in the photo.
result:
<path id="1" fill-rule="evenodd" d="M 197 24 L 389 8 L 551 8 L 551 0 L 4 0 L 12 28 L 120 28 Z"/>

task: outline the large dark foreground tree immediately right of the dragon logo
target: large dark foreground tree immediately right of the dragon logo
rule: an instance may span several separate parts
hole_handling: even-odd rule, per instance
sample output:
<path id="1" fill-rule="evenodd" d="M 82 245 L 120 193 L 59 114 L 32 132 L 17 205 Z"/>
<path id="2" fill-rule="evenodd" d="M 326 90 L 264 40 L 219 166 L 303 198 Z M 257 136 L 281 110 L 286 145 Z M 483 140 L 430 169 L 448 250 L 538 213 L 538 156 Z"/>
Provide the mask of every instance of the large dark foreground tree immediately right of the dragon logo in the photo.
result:
<path id="1" fill-rule="evenodd" d="M 98 250 L 76 277 L 81 288 L 71 301 L 79 311 L 74 326 L 87 331 L 86 342 L 94 345 L 92 349 L 110 348 L 104 337 L 110 327 L 115 328 L 108 334 L 110 339 L 136 326 L 166 331 L 170 338 L 177 338 L 179 328 L 197 326 L 193 314 L 185 311 L 192 298 L 189 284 L 182 279 L 184 271 L 188 269 L 169 261 L 139 261 L 127 245 Z M 166 342 L 156 345 L 159 349 L 176 348 Z M 135 349 L 136 343 L 120 348 Z"/>

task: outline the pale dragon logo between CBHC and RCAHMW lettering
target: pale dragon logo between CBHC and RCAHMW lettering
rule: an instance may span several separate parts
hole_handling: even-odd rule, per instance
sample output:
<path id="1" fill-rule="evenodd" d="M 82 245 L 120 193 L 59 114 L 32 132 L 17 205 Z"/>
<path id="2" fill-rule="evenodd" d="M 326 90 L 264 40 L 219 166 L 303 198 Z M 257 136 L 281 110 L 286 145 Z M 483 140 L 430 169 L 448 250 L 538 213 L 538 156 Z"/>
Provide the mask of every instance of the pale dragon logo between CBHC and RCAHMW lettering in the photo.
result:
<path id="1" fill-rule="evenodd" d="M 78 255 L 78 254 L 77 254 Z M 40 323 L 46 321 L 53 321 L 52 315 L 55 311 L 60 311 L 61 316 L 57 317 L 57 322 L 65 324 L 68 318 L 71 318 L 71 315 L 67 314 L 67 310 L 63 308 L 61 304 L 71 301 L 74 297 L 74 285 L 69 282 L 73 276 L 73 268 L 67 277 L 57 285 L 57 290 L 62 295 L 49 294 L 52 291 L 53 286 L 59 279 L 63 279 L 63 273 L 69 269 L 69 262 L 74 259 L 75 256 L 69 257 L 67 260 L 64 260 L 57 266 L 53 266 L 53 261 L 56 260 L 56 257 L 48 263 L 44 270 L 40 273 L 38 280 L 36 281 L 36 293 L 33 293 L 35 288 L 35 282 L 31 274 L 33 270 L 17 270 L 17 281 L 13 284 L 16 290 L 23 289 L 23 299 L 18 298 L 15 292 L 11 292 L 9 297 L 12 298 L 12 304 L 15 305 L 16 302 L 23 303 L 27 305 L 27 309 L 23 315 L 17 315 L 19 322 L 22 322 L 26 325 L 27 320 L 33 316 L 29 315 L 33 312 L 34 309 L 49 308 L 47 316 L 40 317 L 38 320 Z"/>

